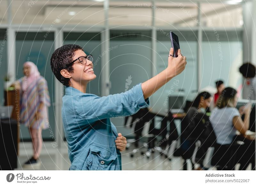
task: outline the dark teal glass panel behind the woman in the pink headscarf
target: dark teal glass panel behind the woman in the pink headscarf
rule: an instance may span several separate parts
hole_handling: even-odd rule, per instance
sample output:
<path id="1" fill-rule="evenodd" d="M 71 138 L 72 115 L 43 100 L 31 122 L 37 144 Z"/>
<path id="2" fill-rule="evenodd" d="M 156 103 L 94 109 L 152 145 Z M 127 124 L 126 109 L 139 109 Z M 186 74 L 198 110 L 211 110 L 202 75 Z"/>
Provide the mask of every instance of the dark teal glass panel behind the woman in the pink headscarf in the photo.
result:
<path id="1" fill-rule="evenodd" d="M 52 140 L 52 134 L 55 132 L 54 119 L 54 81 L 52 80 L 52 69 L 50 59 L 54 52 L 54 33 L 47 32 L 17 32 L 16 33 L 16 78 L 24 76 L 23 64 L 31 61 L 36 64 L 40 75 L 45 78 L 50 93 L 51 106 L 49 107 L 49 130 L 43 130 L 44 140 Z M 20 138 L 23 141 L 30 140 L 28 127 L 20 126 Z"/>

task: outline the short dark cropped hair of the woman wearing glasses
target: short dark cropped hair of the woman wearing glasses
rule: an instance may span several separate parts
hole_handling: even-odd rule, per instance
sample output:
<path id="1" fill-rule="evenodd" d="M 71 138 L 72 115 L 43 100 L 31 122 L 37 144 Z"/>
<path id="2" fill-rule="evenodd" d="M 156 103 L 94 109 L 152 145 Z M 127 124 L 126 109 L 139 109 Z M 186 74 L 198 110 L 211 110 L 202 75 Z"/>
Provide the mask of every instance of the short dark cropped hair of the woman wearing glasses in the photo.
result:
<path id="1" fill-rule="evenodd" d="M 63 45 L 60 48 L 57 48 L 51 57 L 51 68 L 55 77 L 65 86 L 69 86 L 69 78 L 64 78 L 60 71 L 63 69 L 72 72 L 74 69 L 72 66 L 67 67 L 67 64 L 73 61 L 75 56 L 75 51 L 83 50 L 82 47 L 75 44 Z M 84 51 L 84 50 L 83 50 Z"/>

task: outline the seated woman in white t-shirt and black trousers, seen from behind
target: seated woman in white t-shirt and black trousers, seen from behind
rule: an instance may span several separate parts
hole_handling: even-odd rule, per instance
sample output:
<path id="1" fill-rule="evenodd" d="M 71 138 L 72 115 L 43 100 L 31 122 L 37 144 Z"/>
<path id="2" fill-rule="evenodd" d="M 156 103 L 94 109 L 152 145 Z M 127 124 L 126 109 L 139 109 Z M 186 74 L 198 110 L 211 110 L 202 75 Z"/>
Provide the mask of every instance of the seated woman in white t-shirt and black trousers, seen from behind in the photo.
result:
<path id="1" fill-rule="evenodd" d="M 210 116 L 213 130 L 217 137 L 213 164 L 220 165 L 220 169 L 228 170 L 229 160 L 232 158 L 230 145 L 236 136 L 236 130 L 245 134 L 249 128 L 249 118 L 251 105 L 241 107 L 244 112 L 244 121 L 241 119 L 239 111 L 235 108 L 237 103 L 236 90 L 231 87 L 225 88 L 220 94 L 216 108 Z M 232 168 L 232 167 L 231 167 Z"/>

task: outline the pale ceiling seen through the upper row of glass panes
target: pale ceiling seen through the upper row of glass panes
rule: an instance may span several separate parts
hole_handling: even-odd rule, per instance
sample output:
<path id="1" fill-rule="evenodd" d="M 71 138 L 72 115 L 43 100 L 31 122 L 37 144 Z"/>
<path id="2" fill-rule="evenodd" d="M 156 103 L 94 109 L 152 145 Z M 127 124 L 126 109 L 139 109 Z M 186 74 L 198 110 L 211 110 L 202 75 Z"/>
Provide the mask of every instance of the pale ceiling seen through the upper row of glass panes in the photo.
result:
<path id="1" fill-rule="evenodd" d="M 200 0 L 199 0 L 200 1 Z M 202 16 L 219 15 L 241 8 L 232 1 L 208 0 L 201 4 Z M 12 24 L 104 25 L 103 2 L 70 0 L 12 0 Z M 224 4 L 224 3 L 225 4 Z M 0 0 L 1 24 L 8 23 L 8 2 Z M 110 26 L 150 25 L 151 1 L 110 1 Z M 196 1 L 156 1 L 156 26 L 195 26 L 198 13 Z M 232 19 L 232 18 L 231 18 Z"/>

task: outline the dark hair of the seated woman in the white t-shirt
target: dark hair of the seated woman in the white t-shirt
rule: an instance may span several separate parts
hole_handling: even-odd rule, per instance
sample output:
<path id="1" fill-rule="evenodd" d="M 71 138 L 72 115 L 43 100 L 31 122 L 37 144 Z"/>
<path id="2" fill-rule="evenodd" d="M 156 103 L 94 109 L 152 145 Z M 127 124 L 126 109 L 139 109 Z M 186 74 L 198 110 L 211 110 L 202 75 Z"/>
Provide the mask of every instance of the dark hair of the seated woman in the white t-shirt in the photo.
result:
<path id="1" fill-rule="evenodd" d="M 235 107 L 233 103 L 234 103 L 236 93 L 237 93 L 236 89 L 232 87 L 225 88 L 218 98 L 216 107 L 217 108 Z"/>

